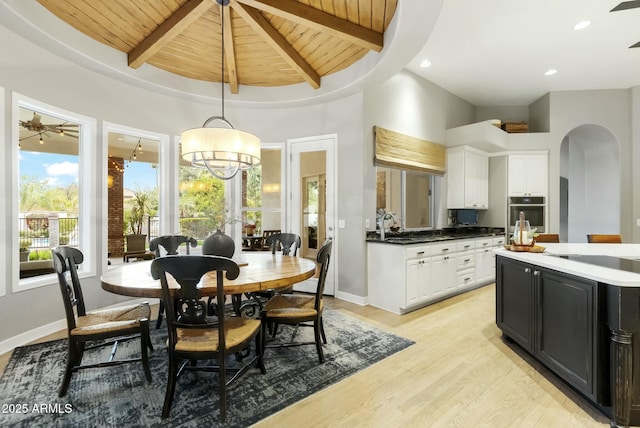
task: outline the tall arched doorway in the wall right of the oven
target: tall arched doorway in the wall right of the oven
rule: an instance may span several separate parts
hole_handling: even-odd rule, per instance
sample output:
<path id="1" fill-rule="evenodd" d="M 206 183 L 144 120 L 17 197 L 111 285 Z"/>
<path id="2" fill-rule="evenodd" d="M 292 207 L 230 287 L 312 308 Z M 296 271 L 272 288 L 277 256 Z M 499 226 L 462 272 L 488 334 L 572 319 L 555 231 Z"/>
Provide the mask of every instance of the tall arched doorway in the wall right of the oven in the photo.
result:
<path id="1" fill-rule="evenodd" d="M 618 140 L 594 124 L 574 128 L 560 146 L 560 240 L 586 242 L 588 233 L 620 233 Z"/>

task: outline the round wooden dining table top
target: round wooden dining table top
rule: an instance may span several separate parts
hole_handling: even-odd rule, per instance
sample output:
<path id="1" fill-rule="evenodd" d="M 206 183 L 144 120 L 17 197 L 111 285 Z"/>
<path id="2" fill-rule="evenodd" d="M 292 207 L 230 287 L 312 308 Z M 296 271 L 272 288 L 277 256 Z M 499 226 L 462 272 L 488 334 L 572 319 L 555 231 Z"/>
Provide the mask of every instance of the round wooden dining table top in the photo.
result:
<path id="1" fill-rule="evenodd" d="M 224 280 L 224 294 L 243 294 L 271 289 L 282 289 L 311 278 L 316 262 L 302 257 L 283 256 L 271 252 L 242 253 L 234 260 L 240 266 L 240 275 Z M 162 298 L 160 280 L 151 277 L 151 261 L 125 264 L 111 269 L 100 277 L 102 288 L 123 296 Z M 178 288 L 170 282 L 169 286 Z M 216 293 L 215 272 L 203 276 L 200 290 L 203 296 Z"/>

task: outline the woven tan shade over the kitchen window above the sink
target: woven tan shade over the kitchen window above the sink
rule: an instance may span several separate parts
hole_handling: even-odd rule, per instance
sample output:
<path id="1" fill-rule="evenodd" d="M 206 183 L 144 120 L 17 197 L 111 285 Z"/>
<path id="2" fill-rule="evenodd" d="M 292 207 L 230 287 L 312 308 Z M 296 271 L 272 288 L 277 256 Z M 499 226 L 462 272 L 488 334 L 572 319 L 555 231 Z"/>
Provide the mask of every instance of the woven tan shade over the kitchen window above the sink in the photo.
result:
<path id="1" fill-rule="evenodd" d="M 446 171 L 446 146 L 373 127 L 376 166 L 409 169 L 434 175 Z"/>

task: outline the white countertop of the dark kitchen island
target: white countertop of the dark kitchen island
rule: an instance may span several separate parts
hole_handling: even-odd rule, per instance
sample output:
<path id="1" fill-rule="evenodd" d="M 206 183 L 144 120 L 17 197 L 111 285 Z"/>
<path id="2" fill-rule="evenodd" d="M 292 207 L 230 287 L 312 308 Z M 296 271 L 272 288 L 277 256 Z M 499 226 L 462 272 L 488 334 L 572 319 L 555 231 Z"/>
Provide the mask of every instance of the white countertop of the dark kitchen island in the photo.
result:
<path id="1" fill-rule="evenodd" d="M 640 287 L 640 273 L 628 272 L 594 264 L 568 260 L 556 256 L 594 255 L 611 256 L 622 259 L 638 260 L 640 264 L 640 244 L 552 244 L 540 243 L 545 247 L 543 253 L 515 252 L 504 248 L 495 250 L 496 254 L 531 263 L 540 267 L 554 269 L 582 278 L 592 279 L 620 287 Z"/>

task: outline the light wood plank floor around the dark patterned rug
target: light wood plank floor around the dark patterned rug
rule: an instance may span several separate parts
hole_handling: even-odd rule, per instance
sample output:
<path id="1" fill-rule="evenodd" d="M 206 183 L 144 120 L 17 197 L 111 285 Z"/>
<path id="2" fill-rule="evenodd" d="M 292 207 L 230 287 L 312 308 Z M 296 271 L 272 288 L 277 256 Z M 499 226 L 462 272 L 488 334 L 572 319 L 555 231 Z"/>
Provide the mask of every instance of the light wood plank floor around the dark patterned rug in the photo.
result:
<path id="1" fill-rule="evenodd" d="M 326 304 L 416 344 L 255 427 L 609 425 L 603 414 L 502 341 L 493 285 L 403 316 L 336 299 Z M 327 336 L 331 340 L 330 331 Z M 0 356 L 0 370 L 7 360 Z"/>

